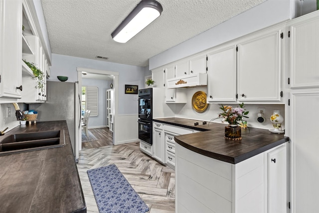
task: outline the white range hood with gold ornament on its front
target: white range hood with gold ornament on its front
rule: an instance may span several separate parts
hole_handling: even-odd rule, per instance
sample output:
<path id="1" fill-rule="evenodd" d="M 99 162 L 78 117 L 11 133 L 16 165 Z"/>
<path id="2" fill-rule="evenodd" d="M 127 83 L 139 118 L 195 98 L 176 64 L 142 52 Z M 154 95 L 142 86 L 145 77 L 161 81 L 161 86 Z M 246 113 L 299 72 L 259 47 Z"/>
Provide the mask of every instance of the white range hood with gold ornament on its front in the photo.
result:
<path id="1" fill-rule="evenodd" d="M 207 85 L 207 73 L 195 73 L 167 79 L 167 88 L 195 87 Z"/>

